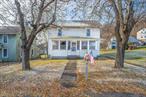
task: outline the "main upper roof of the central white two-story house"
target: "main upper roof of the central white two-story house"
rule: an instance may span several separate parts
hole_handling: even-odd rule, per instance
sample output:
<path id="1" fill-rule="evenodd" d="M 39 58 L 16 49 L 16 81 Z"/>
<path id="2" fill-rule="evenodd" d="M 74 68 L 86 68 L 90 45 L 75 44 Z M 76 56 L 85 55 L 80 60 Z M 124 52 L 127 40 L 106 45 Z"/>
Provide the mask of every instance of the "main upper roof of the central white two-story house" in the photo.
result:
<path id="1" fill-rule="evenodd" d="M 65 27 L 65 28 L 100 28 L 101 24 L 94 20 L 64 20 L 57 21 L 55 25 L 51 25 L 52 28 Z"/>

